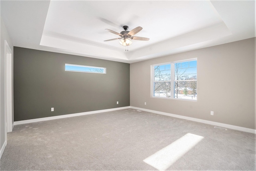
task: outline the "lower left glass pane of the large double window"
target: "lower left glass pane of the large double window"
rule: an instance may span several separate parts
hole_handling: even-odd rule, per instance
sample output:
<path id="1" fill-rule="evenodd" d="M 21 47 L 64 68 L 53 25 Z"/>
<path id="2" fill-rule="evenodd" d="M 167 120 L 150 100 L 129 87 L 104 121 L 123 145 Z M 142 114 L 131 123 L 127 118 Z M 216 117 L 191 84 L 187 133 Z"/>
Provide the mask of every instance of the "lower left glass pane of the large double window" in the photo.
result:
<path id="1" fill-rule="evenodd" d="M 171 82 L 154 82 L 154 97 L 170 97 Z"/>

